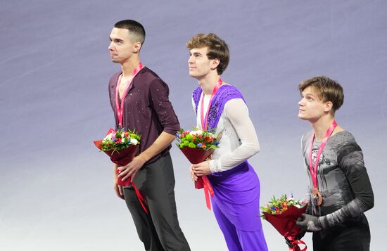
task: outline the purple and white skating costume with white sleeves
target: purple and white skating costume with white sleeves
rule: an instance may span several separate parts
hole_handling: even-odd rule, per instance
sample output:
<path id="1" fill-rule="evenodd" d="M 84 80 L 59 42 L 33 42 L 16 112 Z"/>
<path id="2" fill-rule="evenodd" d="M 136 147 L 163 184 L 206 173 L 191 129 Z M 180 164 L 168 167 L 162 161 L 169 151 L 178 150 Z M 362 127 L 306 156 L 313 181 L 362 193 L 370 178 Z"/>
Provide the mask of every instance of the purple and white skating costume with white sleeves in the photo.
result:
<path id="1" fill-rule="evenodd" d="M 197 127 L 201 129 L 202 89 L 193 93 Z M 210 95 L 204 96 L 208 112 Z M 258 137 L 241 93 L 223 84 L 212 99 L 208 128 L 222 134 L 220 148 L 211 155 L 208 179 L 214 189 L 215 218 L 231 251 L 267 250 L 260 220 L 260 181 L 247 159 L 259 151 Z"/>

